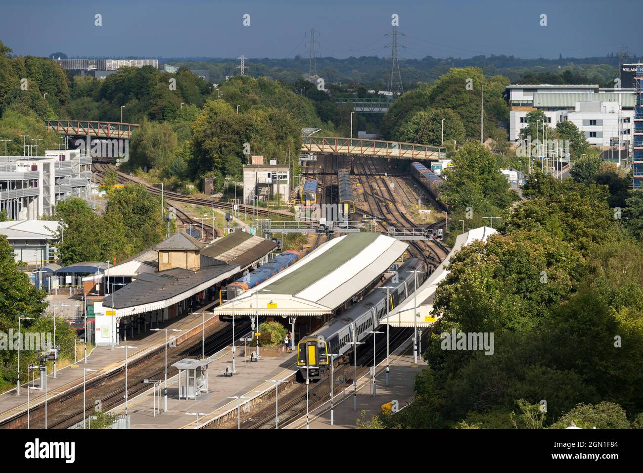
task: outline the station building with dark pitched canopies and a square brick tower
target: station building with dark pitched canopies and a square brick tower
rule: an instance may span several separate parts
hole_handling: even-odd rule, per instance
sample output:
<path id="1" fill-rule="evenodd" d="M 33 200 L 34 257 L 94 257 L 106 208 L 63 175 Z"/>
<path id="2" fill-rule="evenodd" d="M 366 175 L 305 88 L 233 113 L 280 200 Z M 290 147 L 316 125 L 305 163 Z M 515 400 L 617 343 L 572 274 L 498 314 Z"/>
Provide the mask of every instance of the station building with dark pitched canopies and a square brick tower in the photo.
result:
<path id="1" fill-rule="evenodd" d="M 275 249 L 272 241 L 243 233 L 206 245 L 177 232 L 84 277 L 85 297 L 94 299 L 96 345 L 118 344 L 126 333 L 132 339 L 135 330 L 139 335 L 218 299 L 221 286 L 266 261 Z"/>

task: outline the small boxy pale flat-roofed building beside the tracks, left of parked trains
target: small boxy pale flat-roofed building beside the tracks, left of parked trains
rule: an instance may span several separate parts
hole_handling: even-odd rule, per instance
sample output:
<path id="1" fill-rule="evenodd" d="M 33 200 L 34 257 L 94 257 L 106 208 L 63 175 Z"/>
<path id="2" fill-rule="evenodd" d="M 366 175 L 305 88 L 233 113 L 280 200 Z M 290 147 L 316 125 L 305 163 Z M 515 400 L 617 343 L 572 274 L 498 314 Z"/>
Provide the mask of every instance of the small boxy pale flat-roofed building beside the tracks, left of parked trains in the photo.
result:
<path id="1" fill-rule="evenodd" d="M 276 161 L 270 164 L 244 165 L 243 201 L 253 203 L 280 199 L 287 200 L 290 195 L 290 169 L 279 166 Z M 257 196 L 257 197 L 255 197 Z"/>

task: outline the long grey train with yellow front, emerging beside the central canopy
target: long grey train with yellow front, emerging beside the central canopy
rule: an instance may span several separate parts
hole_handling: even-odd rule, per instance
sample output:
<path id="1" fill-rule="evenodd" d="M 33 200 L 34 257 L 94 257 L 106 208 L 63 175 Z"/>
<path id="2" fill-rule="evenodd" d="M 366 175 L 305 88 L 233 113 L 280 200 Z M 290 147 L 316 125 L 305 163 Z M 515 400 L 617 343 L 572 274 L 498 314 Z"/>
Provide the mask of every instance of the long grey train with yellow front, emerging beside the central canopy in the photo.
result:
<path id="1" fill-rule="evenodd" d="M 397 268 L 397 274 L 382 284 L 389 287 L 388 308 L 386 291 L 376 289 L 311 335 L 303 337 L 297 345 L 297 367 L 301 378 L 323 378 L 330 367 L 329 353 L 345 355 L 353 348 L 352 342 L 366 339 L 370 335 L 367 331 L 376 329 L 388 311 L 415 291 L 416 274 L 420 286 L 428 277 L 428 268 L 422 259 L 410 258 Z"/>

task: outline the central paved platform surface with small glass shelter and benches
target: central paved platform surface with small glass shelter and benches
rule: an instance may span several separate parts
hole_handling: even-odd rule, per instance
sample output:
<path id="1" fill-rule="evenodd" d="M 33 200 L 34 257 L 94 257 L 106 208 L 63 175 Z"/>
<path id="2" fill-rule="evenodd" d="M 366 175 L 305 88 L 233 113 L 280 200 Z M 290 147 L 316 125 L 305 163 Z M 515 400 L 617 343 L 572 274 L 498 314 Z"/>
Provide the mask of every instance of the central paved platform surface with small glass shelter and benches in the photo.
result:
<path id="1" fill-rule="evenodd" d="M 254 346 L 250 351 L 254 351 Z M 243 347 L 237 347 L 237 353 L 243 353 Z M 261 354 L 261 349 L 259 349 Z M 224 376 L 222 370 L 231 366 L 231 347 L 228 346 L 210 359 L 208 366 L 208 393 L 201 393 L 194 399 L 178 398 L 178 376 L 168 379 L 168 411 L 163 412 L 163 400 L 156 396 L 154 389 L 150 389 L 127 403 L 127 411 L 131 416 L 132 429 L 194 429 L 197 425 L 196 416 L 187 413 L 203 413 L 199 418 L 199 425 L 236 409 L 237 400 L 228 399 L 228 396 L 244 396 L 246 398 L 258 396 L 267 389 L 275 389 L 274 384 L 266 380 L 281 380 L 296 372 L 295 353 L 287 353 L 280 357 L 261 357 L 258 362 L 244 362 L 243 356 L 235 357 L 237 374 Z M 185 378 L 183 378 L 185 382 Z M 161 383 L 162 385 L 162 383 Z M 161 389 L 162 393 L 162 389 Z M 242 401 L 243 402 L 243 401 Z M 154 405 L 160 406 L 161 412 L 154 413 Z M 241 406 L 244 409 L 244 406 Z M 124 403 L 111 412 L 122 414 L 125 411 Z"/>

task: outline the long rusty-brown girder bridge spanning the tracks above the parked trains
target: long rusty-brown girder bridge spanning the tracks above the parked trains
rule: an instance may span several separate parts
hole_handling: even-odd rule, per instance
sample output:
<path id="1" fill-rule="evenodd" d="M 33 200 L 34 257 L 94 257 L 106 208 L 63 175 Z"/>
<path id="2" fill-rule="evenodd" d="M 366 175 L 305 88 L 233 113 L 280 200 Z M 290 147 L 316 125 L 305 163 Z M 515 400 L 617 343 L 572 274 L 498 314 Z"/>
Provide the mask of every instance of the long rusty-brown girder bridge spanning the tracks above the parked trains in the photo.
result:
<path id="1" fill-rule="evenodd" d="M 304 136 L 302 151 L 320 154 L 352 154 L 409 160 L 441 160 L 446 148 L 415 143 L 401 143 L 362 138 L 336 138 L 331 136 Z"/>

